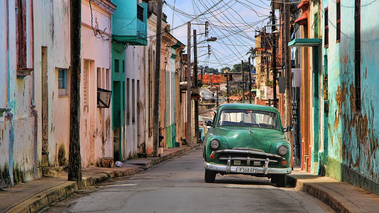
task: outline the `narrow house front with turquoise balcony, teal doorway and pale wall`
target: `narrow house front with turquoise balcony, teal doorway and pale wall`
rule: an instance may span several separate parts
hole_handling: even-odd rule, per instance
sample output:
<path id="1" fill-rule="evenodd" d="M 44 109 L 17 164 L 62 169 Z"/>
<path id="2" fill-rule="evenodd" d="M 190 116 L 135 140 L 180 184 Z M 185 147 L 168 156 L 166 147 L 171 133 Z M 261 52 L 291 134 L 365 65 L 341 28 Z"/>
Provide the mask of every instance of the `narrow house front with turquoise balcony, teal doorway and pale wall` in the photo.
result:
<path id="1" fill-rule="evenodd" d="M 147 3 L 113 3 L 117 6 L 112 20 L 113 157 L 121 161 L 145 153 L 141 146 L 146 122 Z"/>

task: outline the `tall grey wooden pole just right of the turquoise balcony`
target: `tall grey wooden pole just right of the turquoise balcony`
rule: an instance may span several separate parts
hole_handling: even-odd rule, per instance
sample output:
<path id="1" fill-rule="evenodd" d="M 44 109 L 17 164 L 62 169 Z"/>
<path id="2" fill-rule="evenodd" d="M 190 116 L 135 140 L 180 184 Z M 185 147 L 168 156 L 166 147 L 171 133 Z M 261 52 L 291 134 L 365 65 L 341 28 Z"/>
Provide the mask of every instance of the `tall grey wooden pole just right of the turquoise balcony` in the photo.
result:
<path id="1" fill-rule="evenodd" d="M 154 126 L 153 126 L 153 156 L 158 157 L 159 140 L 159 96 L 161 93 L 161 42 L 162 42 L 162 0 L 157 2 L 157 42 L 155 43 L 155 76 L 154 76 Z"/>

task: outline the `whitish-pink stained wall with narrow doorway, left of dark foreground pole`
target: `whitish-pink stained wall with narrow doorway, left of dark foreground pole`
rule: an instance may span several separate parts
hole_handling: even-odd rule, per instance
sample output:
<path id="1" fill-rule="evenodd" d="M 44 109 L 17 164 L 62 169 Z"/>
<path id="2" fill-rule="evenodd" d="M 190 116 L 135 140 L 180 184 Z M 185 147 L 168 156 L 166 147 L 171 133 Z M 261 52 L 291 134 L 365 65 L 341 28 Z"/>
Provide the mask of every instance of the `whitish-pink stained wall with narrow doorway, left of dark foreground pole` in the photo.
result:
<path id="1" fill-rule="evenodd" d="M 67 101 L 69 97 L 60 98 L 58 96 L 57 68 L 68 69 L 70 66 L 69 1 L 34 1 L 33 3 L 34 91 L 38 112 L 37 135 L 39 141 L 37 154 L 38 160 L 41 162 L 42 149 L 47 146 L 49 165 L 54 166 L 56 141 L 61 145 L 64 144 L 68 149 L 66 138 L 69 123 L 64 116 L 69 114 L 69 100 Z M 42 52 L 44 52 L 44 56 L 42 56 Z M 44 72 L 46 72 L 45 76 Z M 46 107 L 45 112 L 42 110 L 43 106 Z M 43 125 L 47 126 L 47 131 L 43 131 Z M 45 138 L 45 145 L 42 145 L 42 138 Z M 66 154 L 68 159 L 68 151 Z"/>

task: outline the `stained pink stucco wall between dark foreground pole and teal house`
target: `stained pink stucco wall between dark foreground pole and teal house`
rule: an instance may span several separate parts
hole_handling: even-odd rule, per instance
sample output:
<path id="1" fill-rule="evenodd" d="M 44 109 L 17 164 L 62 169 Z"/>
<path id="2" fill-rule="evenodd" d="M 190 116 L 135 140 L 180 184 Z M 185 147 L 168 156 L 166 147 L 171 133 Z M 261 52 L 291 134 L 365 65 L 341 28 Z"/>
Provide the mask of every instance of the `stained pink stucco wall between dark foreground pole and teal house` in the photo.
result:
<path id="1" fill-rule="evenodd" d="M 110 90 L 111 85 L 111 14 L 93 2 L 89 5 L 88 1 L 82 1 L 81 10 L 80 152 L 82 166 L 100 166 L 102 157 L 113 157 L 111 108 L 97 108 L 97 88 Z M 95 36 L 92 27 L 103 33 Z"/>

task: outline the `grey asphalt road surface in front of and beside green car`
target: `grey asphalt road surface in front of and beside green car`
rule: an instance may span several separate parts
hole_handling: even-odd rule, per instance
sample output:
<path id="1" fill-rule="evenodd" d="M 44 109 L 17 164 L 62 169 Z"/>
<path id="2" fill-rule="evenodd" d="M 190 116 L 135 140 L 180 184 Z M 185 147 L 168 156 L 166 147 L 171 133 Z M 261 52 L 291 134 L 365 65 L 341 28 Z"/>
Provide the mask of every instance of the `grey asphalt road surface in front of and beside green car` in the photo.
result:
<path id="1" fill-rule="evenodd" d="M 138 174 L 113 179 L 57 202 L 50 212 L 334 213 L 322 201 L 267 178 L 217 175 L 204 182 L 201 147 Z"/>

